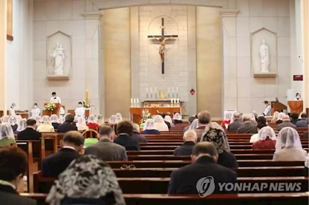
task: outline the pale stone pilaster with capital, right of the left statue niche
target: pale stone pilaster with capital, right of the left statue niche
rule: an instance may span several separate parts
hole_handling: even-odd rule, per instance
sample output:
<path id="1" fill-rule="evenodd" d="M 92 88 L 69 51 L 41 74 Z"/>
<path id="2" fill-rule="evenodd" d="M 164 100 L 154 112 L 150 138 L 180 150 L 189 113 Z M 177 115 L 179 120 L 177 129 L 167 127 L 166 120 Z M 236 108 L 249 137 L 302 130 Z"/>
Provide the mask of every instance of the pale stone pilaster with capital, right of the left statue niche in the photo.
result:
<path id="1" fill-rule="evenodd" d="M 99 64 L 101 58 L 100 25 L 103 14 L 101 12 L 87 12 L 82 14 L 86 20 L 86 90 L 89 90 L 92 114 L 102 114 L 100 110 L 101 84 L 104 84 L 104 76 L 99 74 Z"/>

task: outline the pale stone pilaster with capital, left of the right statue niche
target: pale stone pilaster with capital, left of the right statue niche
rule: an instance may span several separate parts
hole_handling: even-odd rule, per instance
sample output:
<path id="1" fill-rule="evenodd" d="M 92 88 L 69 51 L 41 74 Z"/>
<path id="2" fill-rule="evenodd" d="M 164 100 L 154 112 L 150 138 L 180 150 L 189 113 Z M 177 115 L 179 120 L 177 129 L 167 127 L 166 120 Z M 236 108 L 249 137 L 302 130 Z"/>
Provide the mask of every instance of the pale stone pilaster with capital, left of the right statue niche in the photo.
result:
<path id="1" fill-rule="evenodd" d="M 223 109 L 238 109 L 237 103 L 237 49 L 236 17 L 239 10 L 228 9 L 220 12 L 223 24 Z M 250 69 L 250 68 L 248 68 Z"/>

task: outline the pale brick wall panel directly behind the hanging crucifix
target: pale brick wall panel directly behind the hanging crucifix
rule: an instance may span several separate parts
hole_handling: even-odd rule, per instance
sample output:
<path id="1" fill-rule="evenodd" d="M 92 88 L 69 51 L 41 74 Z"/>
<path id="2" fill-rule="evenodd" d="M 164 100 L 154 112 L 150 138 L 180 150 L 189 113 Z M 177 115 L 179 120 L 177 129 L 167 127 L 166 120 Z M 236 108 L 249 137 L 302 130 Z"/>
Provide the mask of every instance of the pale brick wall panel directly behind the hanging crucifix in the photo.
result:
<path id="1" fill-rule="evenodd" d="M 175 40 L 166 42 L 164 74 L 161 73 L 160 44 L 147 38 L 148 35 L 161 35 L 163 17 L 165 35 L 178 35 Z M 146 98 L 146 87 L 152 87 L 153 92 L 156 87 L 157 91 L 166 93 L 168 87 L 170 92 L 172 87 L 175 92 L 178 87 L 179 98 L 188 102 L 188 6 L 140 6 L 138 49 L 139 98 Z"/>

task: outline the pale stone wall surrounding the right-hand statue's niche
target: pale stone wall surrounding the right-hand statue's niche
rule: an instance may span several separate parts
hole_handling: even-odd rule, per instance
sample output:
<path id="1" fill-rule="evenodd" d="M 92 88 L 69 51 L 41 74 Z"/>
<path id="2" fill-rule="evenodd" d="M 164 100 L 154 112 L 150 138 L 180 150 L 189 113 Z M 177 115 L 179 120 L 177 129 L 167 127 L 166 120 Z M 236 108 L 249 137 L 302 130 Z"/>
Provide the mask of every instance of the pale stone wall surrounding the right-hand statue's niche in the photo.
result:
<path id="1" fill-rule="evenodd" d="M 230 1 L 229 1 L 230 2 Z M 290 0 L 236 0 L 230 9 L 239 10 L 236 18 L 223 19 L 224 54 L 229 65 L 224 66 L 224 109 L 239 112 L 264 111 L 264 100 L 286 104 L 286 90 L 291 86 Z M 253 78 L 250 69 L 250 34 L 261 28 L 277 33 L 277 78 Z M 292 30 L 292 28 L 291 28 Z M 228 39 L 226 39 L 228 36 Z M 292 37 L 291 37 L 292 38 Z M 294 65 L 293 65 L 294 66 Z"/>

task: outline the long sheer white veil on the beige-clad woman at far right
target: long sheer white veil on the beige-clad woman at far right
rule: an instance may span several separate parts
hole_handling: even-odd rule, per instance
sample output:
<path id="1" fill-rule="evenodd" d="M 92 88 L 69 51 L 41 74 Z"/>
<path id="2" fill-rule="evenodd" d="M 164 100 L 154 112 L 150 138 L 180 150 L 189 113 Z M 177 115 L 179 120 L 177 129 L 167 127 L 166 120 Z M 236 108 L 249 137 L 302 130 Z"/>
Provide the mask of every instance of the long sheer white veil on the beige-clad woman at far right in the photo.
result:
<path id="1" fill-rule="evenodd" d="M 284 127 L 279 131 L 276 142 L 276 152 L 280 151 L 284 147 L 303 149 L 298 132 L 294 128 Z"/>

